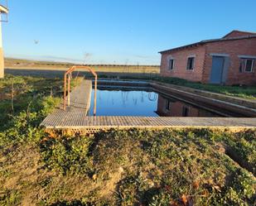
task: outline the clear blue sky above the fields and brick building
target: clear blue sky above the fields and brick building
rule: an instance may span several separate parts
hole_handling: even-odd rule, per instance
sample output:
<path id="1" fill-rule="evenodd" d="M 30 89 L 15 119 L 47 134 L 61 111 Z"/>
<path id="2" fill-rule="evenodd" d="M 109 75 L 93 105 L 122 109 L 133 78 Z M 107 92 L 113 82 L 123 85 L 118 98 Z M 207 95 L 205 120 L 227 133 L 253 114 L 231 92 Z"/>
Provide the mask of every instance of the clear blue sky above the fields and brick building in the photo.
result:
<path id="1" fill-rule="evenodd" d="M 158 51 L 256 32 L 255 7 L 255 0 L 8 0 L 3 50 L 27 60 L 160 65 Z"/>

